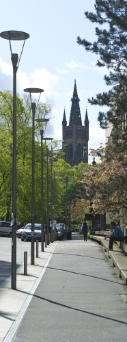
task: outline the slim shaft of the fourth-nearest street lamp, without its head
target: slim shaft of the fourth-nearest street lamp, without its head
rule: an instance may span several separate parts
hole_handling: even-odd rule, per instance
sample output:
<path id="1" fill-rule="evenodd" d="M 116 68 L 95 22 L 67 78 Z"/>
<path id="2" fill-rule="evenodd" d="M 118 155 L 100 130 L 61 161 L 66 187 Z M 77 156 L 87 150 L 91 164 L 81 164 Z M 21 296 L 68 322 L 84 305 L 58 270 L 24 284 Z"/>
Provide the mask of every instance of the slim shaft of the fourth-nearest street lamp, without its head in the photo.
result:
<path id="1" fill-rule="evenodd" d="M 49 245 L 49 187 L 48 187 L 48 148 L 46 148 L 46 233 L 47 233 L 47 245 Z"/>

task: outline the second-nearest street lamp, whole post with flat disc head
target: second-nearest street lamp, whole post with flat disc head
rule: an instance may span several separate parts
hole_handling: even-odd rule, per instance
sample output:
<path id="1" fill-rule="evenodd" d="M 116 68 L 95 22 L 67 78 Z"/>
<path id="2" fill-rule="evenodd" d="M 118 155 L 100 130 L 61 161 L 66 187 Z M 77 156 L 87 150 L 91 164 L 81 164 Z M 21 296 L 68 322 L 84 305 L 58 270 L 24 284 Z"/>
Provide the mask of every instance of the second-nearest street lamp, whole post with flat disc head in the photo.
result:
<path id="1" fill-rule="evenodd" d="M 29 92 L 30 98 L 31 94 L 38 94 L 44 92 L 40 88 L 26 88 L 24 92 Z M 39 97 L 40 100 L 40 97 Z M 38 102 L 39 102 L 38 100 Z M 38 105 L 37 105 L 38 106 Z M 32 109 L 32 182 L 31 182 L 31 265 L 34 265 L 34 121 L 37 109 L 36 103 L 31 102 Z"/>

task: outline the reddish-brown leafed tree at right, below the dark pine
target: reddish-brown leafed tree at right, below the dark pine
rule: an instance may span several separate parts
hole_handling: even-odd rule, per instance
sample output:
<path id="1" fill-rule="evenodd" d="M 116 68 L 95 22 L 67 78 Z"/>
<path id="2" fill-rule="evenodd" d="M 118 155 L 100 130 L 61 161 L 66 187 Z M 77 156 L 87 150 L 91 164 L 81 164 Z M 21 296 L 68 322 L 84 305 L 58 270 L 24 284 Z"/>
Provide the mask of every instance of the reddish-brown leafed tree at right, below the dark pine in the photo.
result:
<path id="1" fill-rule="evenodd" d="M 83 179 L 85 198 L 92 200 L 93 213 L 109 213 L 111 220 L 125 219 L 127 212 L 127 142 L 122 139 L 117 146 L 113 140 L 104 148 L 91 150 L 100 157 L 100 163 L 91 166 Z M 126 224 L 126 222 L 125 222 Z"/>

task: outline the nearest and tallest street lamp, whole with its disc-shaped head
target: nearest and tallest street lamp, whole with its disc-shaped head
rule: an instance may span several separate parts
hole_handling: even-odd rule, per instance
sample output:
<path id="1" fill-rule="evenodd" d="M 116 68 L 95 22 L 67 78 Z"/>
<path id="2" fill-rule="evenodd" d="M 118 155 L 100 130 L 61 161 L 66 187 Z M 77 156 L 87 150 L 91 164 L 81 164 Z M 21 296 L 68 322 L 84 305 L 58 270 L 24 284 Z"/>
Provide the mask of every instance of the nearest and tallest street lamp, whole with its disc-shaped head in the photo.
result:
<path id="1" fill-rule="evenodd" d="M 1 38 L 11 40 L 25 40 L 29 38 L 29 34 L 22 31 L 4 31 L 0 34 Z M 23 48 L 20 57 L 23 53 Z M 10 52 L 13 66 L 13 156 L 12 156 L 12 280 L 11 288 L 16 290 L 16 72 L 18 70 L 18 54 L 12 53 L 10 42 Z M 18 65 L 17 65 L 18 63 Z"/>

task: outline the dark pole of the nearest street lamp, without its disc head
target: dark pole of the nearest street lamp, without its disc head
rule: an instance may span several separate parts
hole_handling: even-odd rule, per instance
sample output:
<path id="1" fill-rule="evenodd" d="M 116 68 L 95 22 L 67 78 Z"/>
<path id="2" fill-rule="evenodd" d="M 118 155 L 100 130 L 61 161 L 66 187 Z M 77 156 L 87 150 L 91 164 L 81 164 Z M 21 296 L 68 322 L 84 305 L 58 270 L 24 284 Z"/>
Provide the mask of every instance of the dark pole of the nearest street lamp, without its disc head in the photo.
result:
<path id="1" fill-rule="evenodd" d="M 13 65 L 13 165 L 12 165 L 12 283 L 11 288 L 16 289 L 16 72 L 17 53 L 12 53 Z"/>

